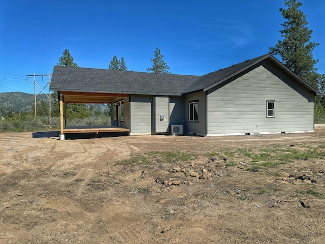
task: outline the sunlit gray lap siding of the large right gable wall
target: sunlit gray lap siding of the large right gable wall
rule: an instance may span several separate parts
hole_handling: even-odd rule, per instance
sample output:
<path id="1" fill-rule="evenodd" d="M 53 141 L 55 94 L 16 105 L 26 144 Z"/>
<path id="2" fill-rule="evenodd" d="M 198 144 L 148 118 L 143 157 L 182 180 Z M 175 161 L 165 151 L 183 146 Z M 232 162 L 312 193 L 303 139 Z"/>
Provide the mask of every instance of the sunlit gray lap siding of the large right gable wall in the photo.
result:
<path id="1" fill-rule="evenodd" d="M 275 100 L 275 117 L 266 101 Z M 314 95 L 268 62 L 207 95 L 207 134 L 313 131 Z"/>

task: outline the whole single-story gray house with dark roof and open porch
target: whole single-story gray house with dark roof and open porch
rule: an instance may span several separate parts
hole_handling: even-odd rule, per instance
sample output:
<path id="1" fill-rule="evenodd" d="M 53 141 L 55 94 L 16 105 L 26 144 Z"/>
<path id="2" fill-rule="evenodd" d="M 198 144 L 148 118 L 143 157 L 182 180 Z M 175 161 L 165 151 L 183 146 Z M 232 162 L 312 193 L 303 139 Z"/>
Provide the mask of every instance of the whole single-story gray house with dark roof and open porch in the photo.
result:
<path id="1" fill-rule="evenodd" d="M 314 131 L 320 93 L 271 54 L 203 75 L 55 66 L 50 89 L 66 103 L 111 103 L 112 127 L 129 135 L 200 136 Z M 100 131 L 103 132 L 103 131 Z"/>

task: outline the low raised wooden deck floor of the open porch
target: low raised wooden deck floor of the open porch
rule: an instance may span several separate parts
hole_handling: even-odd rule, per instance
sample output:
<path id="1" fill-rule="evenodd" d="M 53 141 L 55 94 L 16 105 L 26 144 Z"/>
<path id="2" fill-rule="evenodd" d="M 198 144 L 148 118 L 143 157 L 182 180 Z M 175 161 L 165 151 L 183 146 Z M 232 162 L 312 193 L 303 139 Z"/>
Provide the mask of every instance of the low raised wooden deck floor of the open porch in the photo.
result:
<path id="1" fill-rule="evenodd" d="M 68 133 L 108 133 L 108 132 L 129 132 L 130 129 L 117 126 L 67 126 L 63 128 L 63 134 Z"/>

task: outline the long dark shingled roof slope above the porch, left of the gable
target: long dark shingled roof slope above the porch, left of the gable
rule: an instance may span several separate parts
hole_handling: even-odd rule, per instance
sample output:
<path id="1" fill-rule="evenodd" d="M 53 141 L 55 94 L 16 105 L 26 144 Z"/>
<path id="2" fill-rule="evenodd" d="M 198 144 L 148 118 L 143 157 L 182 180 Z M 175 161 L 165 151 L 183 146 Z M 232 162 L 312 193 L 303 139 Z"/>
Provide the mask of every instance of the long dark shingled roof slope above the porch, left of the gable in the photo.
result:
<path id="1" fill-rule="evenodd" d="M 50 89 L 64 92 L 180 96 L 200 76 L 54 66 Z"/>

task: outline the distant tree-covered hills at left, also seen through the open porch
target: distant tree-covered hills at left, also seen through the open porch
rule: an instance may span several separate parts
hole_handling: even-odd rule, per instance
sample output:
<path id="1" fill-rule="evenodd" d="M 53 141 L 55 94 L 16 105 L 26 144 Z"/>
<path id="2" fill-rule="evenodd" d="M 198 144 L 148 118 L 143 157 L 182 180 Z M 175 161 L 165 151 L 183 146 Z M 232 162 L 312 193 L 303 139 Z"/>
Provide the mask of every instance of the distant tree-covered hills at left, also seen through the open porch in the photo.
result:
<path id="1" fill-rule="evenodd" d="M 34 94 L 28 93 L 0 93 L 0 115 L 6 115 L 11 111 L 34 111 Z M 36 102 L 45 101 L 49 103 L 49 99 L 45 94 L 40 94 Z M 54 104 L 54 101 L 51 101 Z M 109 111 L 109 107 L 104 104 L 87 104 L 87 107 L 93 106 L 94 111 Z M 53 106 L 52 106 L 53 109 Z"/>

